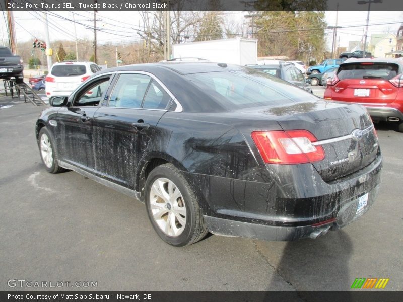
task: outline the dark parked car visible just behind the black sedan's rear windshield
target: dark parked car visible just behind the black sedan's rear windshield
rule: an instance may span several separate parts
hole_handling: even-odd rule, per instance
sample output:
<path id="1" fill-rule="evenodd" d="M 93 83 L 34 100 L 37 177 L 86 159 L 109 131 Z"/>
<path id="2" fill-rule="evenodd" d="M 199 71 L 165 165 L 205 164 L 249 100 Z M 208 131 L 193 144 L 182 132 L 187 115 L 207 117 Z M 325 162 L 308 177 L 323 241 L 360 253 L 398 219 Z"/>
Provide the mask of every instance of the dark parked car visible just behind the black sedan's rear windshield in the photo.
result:
<path id="1" fill-rule="evenodd" d="M 312 93 L 312 87 L 308 81 L 306 81 L 301 70 L 294 67 L 291 64 L 279 64 L 279 65 L 250 65 L 250 68 L 263 71 L 265 73 L 274 75 L 275 77 L 290 82 L 305 91 Z"/>

